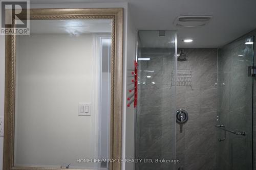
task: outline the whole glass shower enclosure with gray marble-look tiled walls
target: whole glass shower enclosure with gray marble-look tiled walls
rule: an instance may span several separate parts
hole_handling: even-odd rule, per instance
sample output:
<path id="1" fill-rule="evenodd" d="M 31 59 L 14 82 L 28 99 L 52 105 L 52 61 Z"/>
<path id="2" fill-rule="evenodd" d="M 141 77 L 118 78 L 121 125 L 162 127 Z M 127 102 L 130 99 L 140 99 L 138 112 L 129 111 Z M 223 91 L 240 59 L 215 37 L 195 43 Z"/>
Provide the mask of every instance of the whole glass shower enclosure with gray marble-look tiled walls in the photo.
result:
<path id="1" fill-rule="evenodd" d="M 211 93 L 204 93 L 210 97 L 205 98 L 201 91 L 206 85 L 198 86 L 197 89 L 197 86 L 179 88 L 179 67 L 182 64 L 186 66 L 187 62 L 178 63 L 177 32 L 138 31 L 135 158 L 142 159 L 142 162 L 135 164 L 135 170 L 253 169 L 253 77 L 256 76 L 253 44 L 254 37 L 251 36 L 240 38 L 220 48 L 210 48 L 211 50 L 185 49 L 190 52 L 189 66 L 194 70 L 190 77 L 198 78 L 193 81 L 201 80 L 202 75 L 206 75 L 203 77 L 206 79 L 199 83 L 210 81 L 206 85 Z M 209 69 L 201 68 L 200 72 L 200 63 L 204 66 L 202 68 L 210 65 L 216 71 L 205 74 Z M 183 124 L 187 128 L 182 131 L 183 135 L 186 135 L 182 140 L 179 140 L 179 133 L 176 131 L 179 130 L 176 128 L 176 111 L 185 107 L 184 103 L 179 105 L 179 90 L 187 92 L 190 100 L 200 99 L 196 101 L 197 106 L 203 108 L 194 112 L 193 109 L 186 108 L 190 118 L 187 124 Z M 179 94 L 177 103 L 176 91 Z M 199 94 L 200 98 L 197 96 Z M 193 98 L 190 95 L 193 95 Z M 205 99 L 208 99 L 208 104 Z M 176 104 L 179 108 L 176 108 Z M 205 116 L 206 111 L 210 109 L 212 111 L 207 112 L 210 116 Z M 196 116 L 193 117 L 193 114 Z M 198 125 L 198 128 L 191 128 L 194 125 Z M 204 130 L 204 133 L 200 130 Z M 207 145 L 208 143 L 213 144 Z M 181 147 L 182 150 L 179 151 Z M 196 153 L 200 147 L 200 153 Z M 180 164 L 163 162 L 175 160 L 176 150 L 177 159 L 181 159 Z M 179 157 L 180 153 L 183 157 Z"/>

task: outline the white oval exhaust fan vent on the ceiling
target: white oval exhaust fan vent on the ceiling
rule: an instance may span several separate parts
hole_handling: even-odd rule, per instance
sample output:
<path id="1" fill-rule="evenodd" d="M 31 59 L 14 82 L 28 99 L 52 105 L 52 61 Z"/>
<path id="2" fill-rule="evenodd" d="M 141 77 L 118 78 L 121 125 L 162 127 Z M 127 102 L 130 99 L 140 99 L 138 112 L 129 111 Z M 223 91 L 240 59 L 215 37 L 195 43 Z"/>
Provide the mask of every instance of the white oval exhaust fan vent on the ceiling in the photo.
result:
<path id="1" fill-rule="evenodd" d="M 174 21 L 174 25 L 176 27 L 203 27 L 211 18 L 212 16 L 209 15 L 178 16 Z"/>

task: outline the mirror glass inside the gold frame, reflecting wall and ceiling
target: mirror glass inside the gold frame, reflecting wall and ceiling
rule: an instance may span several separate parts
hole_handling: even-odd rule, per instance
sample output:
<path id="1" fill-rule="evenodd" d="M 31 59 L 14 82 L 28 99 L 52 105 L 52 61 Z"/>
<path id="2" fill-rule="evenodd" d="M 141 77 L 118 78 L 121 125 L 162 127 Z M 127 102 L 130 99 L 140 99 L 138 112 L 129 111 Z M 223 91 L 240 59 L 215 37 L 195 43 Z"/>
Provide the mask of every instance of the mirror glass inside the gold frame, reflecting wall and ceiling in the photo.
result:
<path id="1" fill-rule="evenodd" d="M 14 166 L 108 168 L 111 19 L 31 20 L 17 36 Z"/>

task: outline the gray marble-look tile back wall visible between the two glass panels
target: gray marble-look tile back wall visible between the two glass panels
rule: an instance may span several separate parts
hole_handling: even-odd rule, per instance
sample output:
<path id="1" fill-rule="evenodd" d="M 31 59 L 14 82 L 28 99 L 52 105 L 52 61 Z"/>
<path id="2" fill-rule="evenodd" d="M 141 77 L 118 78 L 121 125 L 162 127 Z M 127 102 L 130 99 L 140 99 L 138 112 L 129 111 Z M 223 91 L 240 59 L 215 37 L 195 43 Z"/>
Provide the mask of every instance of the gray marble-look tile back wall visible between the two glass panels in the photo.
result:
<path id="1" fill-rule="evenodd" d="M 187 61 L 177 69 L 191 69 L 191 87 L 176 87 L 176 108 L 188 112 L 188 121 L 176 124 L 176 169 L 216 169 L 217 48 L 179 48 Z"/>

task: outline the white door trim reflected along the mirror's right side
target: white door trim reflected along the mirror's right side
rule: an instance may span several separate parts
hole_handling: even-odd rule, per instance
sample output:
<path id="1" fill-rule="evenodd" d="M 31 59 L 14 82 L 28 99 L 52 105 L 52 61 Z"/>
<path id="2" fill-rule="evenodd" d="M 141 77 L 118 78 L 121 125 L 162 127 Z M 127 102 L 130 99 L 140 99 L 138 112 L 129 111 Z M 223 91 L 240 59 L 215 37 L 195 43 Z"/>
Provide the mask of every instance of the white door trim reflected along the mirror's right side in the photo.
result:
<path id="1" fill-rule="evenodd" d="M 102 98 L 102 39 L 108 38 L 111 36 L 108 34 L 94 34 L 93 35 L 93 84 L 92 89 L 92 135 L 94 137 L 91 139 L 92 153 L 94 153 L 93 158 L 101 158 L 101 98 Z M 111 42 L 110 42 L 111 43 Z M 109 60 L 110 62 L 110 56 Z M 111 63 L 108 64 L 108 72 L 111 71 Z M 111 86 L 111 77 L 109 75 L 109 87 Z M 108 92 L 109 102 L 110 102 L 110 89 Z M 108 103 L 108 148 L 107 153 L 109 153 L 109 144 L 110 144 L 110 103 Z M 100 163 L 95 163 L 95 167 L 99 168 Z"/>

